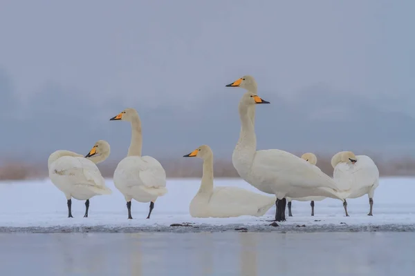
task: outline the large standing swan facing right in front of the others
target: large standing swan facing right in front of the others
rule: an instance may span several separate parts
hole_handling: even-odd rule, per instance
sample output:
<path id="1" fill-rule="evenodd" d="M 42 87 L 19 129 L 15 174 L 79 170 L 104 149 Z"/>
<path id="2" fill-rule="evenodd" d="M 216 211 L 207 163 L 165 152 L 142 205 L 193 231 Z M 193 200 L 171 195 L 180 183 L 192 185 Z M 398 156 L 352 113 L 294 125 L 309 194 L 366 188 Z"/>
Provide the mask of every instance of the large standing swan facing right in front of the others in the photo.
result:
<path id="1" fill-rule="evenodd" d="M 316 166 L 284 150 L 257 150 L 254 118 L 260 103 L 269 102 L 252 92 L 246 92 L 239 102 L 241 132 L 232 163 L 242 179 L 277 197 L 275 220 L 285 220 L 286 197 L 324 196 L 343 201 L 345 196 L 335 181 Z"/>

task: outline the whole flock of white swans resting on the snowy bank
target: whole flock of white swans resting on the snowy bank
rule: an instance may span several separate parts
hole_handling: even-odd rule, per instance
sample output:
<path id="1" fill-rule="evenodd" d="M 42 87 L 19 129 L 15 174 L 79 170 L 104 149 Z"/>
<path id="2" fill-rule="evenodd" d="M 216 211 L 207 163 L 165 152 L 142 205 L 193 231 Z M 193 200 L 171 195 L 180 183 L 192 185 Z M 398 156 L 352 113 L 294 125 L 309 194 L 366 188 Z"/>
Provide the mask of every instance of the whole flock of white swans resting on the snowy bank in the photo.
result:
<path id="1" fill-rule="evenodd" d="M 208 145 L 199 146 L 183 157 L 203 159 L 201 185 L 190 201 L 192 217 L 259 217 L 276 206 L 275 221 L 293 217 L 293 201 L 311 201 L 314 216 L 315 201 L 327 197 L 339 199 L 347 212 L 347 199 L 369 197 L 369 213 L 373 215 L 374 192 L 379 185 L 379 171 L 367 155 L 355 155 L 341 151 L 333 155 L 333 178 L 316 166 L 317 157 L 306 152 L 301 157 L 278 149 L 257 150 L 255 133 L 255 110 L 258 105 L 270 104 L 257 95 L 257 82 L 252 76 L 243 76 L 226 85 L 244 88 L 246 92 L 239 101 L 241 123 L 239 139 L 232 153 L 232 164 L 239 176 L 257 188 L 263 195 L 243 188 L 214 186 L 213 152 Z M 272 104 L 271 104 L 272 106 Z M 127 121 L 131 125 L 131 142 L 127 156 L 116 167 L 113 183 L 124 195 L 128 219 L 132 219 L 131 201 L 149 203 L 150 218 L 156 199 L 167 194 L 166 173 L 159 161 L 142 156 L 142 130 L 138 112 L 134 108 L 122 110 L 110 121 Z M 85 215 L 89 215 L 90 199 L 95 195 L 111 195 L 104 178 L 96 166 L 110 155 L 107 141 L 97 141 L 86 155 L 69 150 L 56 150 L 48 158 L 50 181 L 64 193 L 68 217 L 73 217 L 72 198 L 85 201 Z"/>

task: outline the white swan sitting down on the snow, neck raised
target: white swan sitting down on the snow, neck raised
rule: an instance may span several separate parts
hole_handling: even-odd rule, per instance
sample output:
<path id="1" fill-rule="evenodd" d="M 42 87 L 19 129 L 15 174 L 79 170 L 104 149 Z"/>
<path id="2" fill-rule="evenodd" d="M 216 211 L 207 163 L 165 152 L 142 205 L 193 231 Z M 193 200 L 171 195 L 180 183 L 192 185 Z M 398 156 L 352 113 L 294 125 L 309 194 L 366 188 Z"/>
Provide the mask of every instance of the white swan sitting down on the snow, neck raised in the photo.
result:
<path id="1" fill-rule="evenodd" d="M 192 217 L 259 217 L 274 205 L 275 197 L 259 195 L 238 187 L 214 187 L 213 152 L 209 146 L 200 146 L 183 157 L 203 159 L 201 187 L 190 202 Z"/>

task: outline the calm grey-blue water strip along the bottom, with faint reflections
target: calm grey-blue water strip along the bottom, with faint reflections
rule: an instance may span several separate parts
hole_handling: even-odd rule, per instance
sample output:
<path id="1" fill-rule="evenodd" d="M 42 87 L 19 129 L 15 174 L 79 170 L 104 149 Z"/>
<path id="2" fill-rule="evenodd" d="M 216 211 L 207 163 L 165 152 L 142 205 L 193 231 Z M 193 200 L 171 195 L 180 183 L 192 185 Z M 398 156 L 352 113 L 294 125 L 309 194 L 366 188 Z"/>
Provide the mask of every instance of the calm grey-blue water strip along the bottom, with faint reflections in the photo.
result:
<path id="1" fill-rule="evenodd" d="M 415 233 L 0 234 L 0 275 L 412 275 Z"/>

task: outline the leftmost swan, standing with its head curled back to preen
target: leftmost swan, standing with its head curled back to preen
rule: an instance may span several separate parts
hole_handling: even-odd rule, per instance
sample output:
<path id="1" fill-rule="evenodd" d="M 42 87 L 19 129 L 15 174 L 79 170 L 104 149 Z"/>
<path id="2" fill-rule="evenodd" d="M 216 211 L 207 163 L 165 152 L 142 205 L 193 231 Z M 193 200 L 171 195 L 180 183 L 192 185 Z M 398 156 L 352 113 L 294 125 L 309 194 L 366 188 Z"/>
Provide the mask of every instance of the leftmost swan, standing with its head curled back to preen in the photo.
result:
<path id="1" fill-rule="evenodd" d="M 48 158 L 50 181 L 65 194 L 68 217 L 72 216 L 72 200 L 85 201 L 85 215 L 88 217 L 89 199 L 94 195 L 110 195 L 112 191 L 105 186 L 105 180 L 98 164 L 109 157 L 107 141 L 100 140 L 84 157 L 69 150 L 57 150 Z"/>

